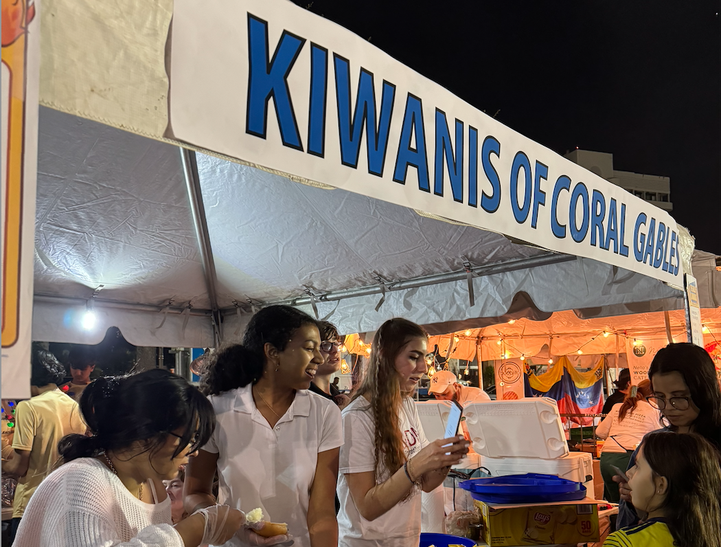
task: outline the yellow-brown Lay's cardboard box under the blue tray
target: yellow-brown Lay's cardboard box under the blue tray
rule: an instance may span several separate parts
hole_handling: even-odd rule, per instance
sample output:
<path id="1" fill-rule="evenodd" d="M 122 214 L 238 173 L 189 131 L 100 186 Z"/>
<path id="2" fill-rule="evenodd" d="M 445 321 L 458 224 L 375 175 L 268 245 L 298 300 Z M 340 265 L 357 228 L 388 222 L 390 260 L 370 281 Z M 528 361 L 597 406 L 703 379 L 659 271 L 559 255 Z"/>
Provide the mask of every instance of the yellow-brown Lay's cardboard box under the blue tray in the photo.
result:
<path id="1" fill-rule="evenodd" d="M 490 504 L 474 500 L 490 547 L 599 541 L 595 499 L 552 504 Z"/>

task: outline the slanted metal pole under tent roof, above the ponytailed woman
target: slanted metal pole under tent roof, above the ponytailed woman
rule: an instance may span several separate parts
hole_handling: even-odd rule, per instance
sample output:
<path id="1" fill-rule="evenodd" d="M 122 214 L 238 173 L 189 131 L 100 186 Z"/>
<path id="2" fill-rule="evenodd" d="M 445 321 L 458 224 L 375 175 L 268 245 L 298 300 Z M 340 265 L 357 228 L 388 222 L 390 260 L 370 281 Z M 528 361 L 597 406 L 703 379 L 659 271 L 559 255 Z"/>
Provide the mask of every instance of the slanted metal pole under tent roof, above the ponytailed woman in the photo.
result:
<path id="1" fill-rule="evenodd" d="M 187 197 L 190 201 L 190 211 L 193 214 L 195 224 L 195 235 L 198 237 L 198 248 L 200 258 L 203 259 L 203 276 L 205 287 L 208 289 L 208 299 L 211 301 L 211 315 L 213 317 L 213 336 L 216 346 L 223 339 L 221 333 L 221 314 L 218 307 L 218 291 L 216 281 L 216 263 L 213 260 L 213 248 L 211 246 L 211 235 L 208 232 L 208 222 L 205 219 L 205 204 L 203 204 L 203 191 L 200 189 L 200 175 L 198 174 L 198 159 L 195 151 L 187 148 L 179 148 L 182 172 L 187 188 Z"/>

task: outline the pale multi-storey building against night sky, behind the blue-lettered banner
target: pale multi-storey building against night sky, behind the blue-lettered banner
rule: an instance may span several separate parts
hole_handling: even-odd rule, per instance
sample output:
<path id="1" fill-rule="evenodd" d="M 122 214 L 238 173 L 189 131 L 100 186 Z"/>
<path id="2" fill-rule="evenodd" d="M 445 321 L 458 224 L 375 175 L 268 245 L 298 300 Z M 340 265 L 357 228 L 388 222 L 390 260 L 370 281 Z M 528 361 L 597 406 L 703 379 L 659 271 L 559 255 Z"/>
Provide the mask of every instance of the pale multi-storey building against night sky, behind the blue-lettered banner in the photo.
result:
<path id="1" fill-rule="evenodd" d="M 572 162 L 596 173 L 609 183 L 614 183 L 634 196 L 648 201 L 660 209 L 672 211 L 671 179 L 658 175 L 641 175 L 614 169 L 614 154 L 575 149 L 564 154 Z"/>

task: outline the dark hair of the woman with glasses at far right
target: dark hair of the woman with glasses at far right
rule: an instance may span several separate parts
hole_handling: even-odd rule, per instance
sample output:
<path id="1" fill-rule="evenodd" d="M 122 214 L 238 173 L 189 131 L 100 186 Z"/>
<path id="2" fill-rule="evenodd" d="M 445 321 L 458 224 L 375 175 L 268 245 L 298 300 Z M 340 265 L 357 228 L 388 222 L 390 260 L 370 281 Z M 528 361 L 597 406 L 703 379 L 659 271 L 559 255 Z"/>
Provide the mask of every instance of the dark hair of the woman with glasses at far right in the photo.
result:
<path id="1" fill-rule="evenodd" d="M 711 356 L 692 343 L 670 343 L 654 356 L 648 377 L 653 383 L 655 375 L 669 372 L 678 372 L 684 377 L 691 400 L 699 408 L 694 433 L 703 435 L 721 450 L 721 388 Z M 668 429 L 676 431 L 672 425 Z"/>

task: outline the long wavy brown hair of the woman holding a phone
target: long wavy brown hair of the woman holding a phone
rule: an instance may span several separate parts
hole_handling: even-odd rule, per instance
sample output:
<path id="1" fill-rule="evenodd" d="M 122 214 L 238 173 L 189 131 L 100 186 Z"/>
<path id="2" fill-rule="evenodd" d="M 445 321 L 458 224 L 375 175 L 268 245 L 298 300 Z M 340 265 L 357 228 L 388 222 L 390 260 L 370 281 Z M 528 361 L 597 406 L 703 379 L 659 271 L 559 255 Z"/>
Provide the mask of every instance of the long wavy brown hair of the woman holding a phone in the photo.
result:
<path id="1" fill-rule="evenodd" d="M 376 331 L 371 344 L 371 356 L 352 400 L 366 395 L 371 401 L 373 425 L 376 438 L 373 450 L 376 462 L 376 481 L 379 479 L 379 463 L 383 463 L 392 475 L 406 461 L 404 440 L 400 430 L 398 413 L 407 393 L 401 393 L 396 358 L 413 338 L 428 338 L 428 333 L 407 319 L 389 319 Z M 410 496 L 411 493 L 408 494 Z"/>

